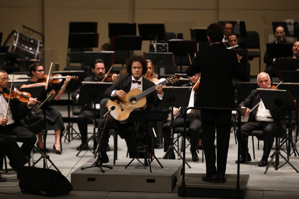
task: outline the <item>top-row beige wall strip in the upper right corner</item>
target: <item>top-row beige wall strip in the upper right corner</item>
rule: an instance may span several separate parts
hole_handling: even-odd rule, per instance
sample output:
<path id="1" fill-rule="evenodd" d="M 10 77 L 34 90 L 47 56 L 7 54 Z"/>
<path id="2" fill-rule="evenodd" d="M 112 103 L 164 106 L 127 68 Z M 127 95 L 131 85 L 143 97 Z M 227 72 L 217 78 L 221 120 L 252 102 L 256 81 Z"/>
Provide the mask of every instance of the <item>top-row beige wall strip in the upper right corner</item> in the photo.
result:
<path id="1" fill-rule="evenodd" d="M 298 0 L 219 0 L 219 9 L 231 10 L 294 10 L 299 9 Z"/>

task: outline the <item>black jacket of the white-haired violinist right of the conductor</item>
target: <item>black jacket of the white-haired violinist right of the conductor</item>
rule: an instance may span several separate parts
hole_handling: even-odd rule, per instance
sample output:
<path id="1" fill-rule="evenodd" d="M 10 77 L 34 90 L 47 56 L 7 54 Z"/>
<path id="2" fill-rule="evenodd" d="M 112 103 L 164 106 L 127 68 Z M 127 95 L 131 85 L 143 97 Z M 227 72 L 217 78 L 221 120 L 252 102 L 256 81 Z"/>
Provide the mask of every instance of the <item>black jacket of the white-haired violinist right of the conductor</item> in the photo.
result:
<path id="1" fill-rule="evenodd" d="M 238 107 L 247 107 L 249 109 L 252 109 L 256 104 L 259 103 L 259 101 L 261 100 L 261 96 L 259 95 L 259 92 L 257 89 L 254 89 L 251 91 L 251 93 L 249 94 L 249 96 L 244 99 L 243 102 L 241 102 Z M 248 122 L 253 121 L 256 115 L 256 112 L 258 110 L 258 107 L 256 107 L 253 111 L 250 112 L 249 114 L 249 118 L 248 118 Z M 269 110 L 272 116 L 275 116 L 275 110 Z M 285 114 L 280 113 L 280 116 L 284 116 Z M 274 122 L 275 118 L 273 118 Z M 285 135 L 284 133 L 287 131 L 287 127 L 286 124 L 283 120 L 279 121 L 279 129 L 282 133 L 282 135 Z"/>

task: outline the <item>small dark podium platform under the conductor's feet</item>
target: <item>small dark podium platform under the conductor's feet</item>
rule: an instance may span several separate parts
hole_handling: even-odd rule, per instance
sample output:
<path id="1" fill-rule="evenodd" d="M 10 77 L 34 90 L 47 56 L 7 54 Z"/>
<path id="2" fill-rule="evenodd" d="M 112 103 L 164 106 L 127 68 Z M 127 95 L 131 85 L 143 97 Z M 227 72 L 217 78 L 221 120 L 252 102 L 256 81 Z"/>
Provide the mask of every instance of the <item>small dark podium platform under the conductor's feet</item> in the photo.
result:
<path id="1" fill-rule="evenodd" d="M 185 174 L 185 194 L 184 197 L 216 197 L 216 198 L 236 198 L 237 174 L 225 174 L 225 183 L 211 183 L 202 181 L 205 173 L 186 173 Z M 245 197 L 248 174 L 240 174 L 239 198 Z M 177 182 L 178 196 L 182 197 L 182 178 Z"/>

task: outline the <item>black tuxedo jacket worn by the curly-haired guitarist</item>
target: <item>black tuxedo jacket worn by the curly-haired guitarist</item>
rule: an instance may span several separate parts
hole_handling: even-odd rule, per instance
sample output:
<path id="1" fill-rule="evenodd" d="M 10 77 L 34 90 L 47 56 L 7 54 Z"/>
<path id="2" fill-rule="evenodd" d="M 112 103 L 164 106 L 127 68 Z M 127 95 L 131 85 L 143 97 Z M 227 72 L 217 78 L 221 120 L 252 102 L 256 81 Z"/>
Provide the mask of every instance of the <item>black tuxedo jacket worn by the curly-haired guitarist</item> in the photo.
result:
<path id="1" fill-rule="evenodd" d="M 111 93 L 114 90 L 123 90 L 124 92 L 128 93 L 130 92 L 131 89 L 131 83 L 132 83 L 132 74 L 120 75 L 116 83 L 112 84 L 109 88 L 107 88 L 104 94 L 111 96 Z M 146 89 L 149 89 L 153 86 L 155 86 L 153 82 L 151 82 L 148 79 L 142 78 L 142 91 L 145 91 Z M 146 110 L 150 110 L 151 105 L 153 105 L 154 107 L 158 106 L 160 101 L 161 100 L 159 99 L 157 92 L 155 91 L 151 92 L 146 96 L 146 102 L 147 102 Z"/>

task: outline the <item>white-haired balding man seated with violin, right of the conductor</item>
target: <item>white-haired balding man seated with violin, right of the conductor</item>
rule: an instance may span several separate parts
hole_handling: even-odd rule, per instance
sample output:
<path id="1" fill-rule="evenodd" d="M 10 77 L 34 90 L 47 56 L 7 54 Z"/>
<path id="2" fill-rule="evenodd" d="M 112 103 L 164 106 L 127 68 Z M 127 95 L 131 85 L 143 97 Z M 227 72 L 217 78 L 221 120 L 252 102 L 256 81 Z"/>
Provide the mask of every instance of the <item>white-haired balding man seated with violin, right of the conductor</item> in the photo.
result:
<path id="1" fill-rule="evenodd" d="M 257 82 L 259 88 L 270 88 L 271 79 L 267 73 L 259 73 L 257 77 Z M 246 138 L 248 137 L 249 133 L 253 130 L 263 130 L 263 157 L 259 162 L 259 167 L 265 167 L 268 165 L 268 157 L 273 146 L 274 136 L 275 136 L 275 129 L 276 124 L 272 118 L 274 116 L 275 110 L 268 110 L 265 108 L 263 101 L 259 104 L 258 107 L 252 109 L 256 104 L 258 104 L 261 100 L 259 92 L 257 89 L 251 91 L 250 95 L 241 102 L 238 107 L 246 108 L 245 116 L 249 115 L 248 122 L 241 126 L 241 134 L 243 136 L 238 137 L 239 145 L 241 146 L 241 155 L 240 155 L 240 163 L 246 162 L 246 153 L 247 162 L 251 161 L 250 154 L 248 152 L 248 148 L 246 149 Z M 286 125 L 284 121 L 279 121 L 279 130 L 282 135 L 286 133 Z M 237 160 L 236 160 L 237 163 Z"/>

